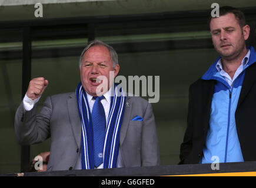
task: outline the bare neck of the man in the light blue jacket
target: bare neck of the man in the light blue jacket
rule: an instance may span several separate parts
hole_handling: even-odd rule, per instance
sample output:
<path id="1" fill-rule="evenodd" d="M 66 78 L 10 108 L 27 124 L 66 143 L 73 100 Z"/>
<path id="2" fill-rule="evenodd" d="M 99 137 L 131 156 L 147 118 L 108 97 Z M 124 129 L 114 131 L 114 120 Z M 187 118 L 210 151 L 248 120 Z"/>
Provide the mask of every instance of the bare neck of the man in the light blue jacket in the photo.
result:
<path id="1" fill-rule="evenodd" d="M 235 71 L 237 71 L 238 67 L 241 65 L 242 59 L 247 54 L 248 50 L 244 48 L 244 50 L 235 58 L 225 59 L 221 58 L 221 63 L 223 70 L 230 75 L 231 79 L 233 79 L 235 75 Z"/>

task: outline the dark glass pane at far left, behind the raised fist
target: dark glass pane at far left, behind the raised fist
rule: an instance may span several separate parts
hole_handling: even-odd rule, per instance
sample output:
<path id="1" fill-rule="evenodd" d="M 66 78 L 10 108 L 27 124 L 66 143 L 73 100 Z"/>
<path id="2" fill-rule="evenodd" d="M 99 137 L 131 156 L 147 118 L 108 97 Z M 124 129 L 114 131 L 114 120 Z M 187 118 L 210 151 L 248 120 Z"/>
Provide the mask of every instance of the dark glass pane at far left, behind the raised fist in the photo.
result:
<path id="1" fill-rule="evenodd" d="M 20 146 L 14 116 L 21 103 L 22 32 L 0 31 L 0 173 L 20 172 Z"/>

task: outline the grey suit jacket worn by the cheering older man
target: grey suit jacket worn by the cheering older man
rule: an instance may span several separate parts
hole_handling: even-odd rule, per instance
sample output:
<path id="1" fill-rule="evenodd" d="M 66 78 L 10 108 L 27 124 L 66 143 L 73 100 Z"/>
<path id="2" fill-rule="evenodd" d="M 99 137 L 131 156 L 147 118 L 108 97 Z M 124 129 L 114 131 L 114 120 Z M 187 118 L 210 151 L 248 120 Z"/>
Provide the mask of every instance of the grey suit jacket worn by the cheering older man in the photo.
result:
<path id="1" fill-rule="evenodd" d="M 152 106 L 147 100 L 127 96 L 119 137 L 124 167 L 159 165 L 159 146 Z M 75 93 L 49 96 L 39 114 L 36 106 L 15 114 L 15 136 L 21 145 L 40 143 L 51 137 L 47 170 L 74 169 L 81 147 L 81 120 Z M 143 121 L 132 121 L 135 116 Z"/>

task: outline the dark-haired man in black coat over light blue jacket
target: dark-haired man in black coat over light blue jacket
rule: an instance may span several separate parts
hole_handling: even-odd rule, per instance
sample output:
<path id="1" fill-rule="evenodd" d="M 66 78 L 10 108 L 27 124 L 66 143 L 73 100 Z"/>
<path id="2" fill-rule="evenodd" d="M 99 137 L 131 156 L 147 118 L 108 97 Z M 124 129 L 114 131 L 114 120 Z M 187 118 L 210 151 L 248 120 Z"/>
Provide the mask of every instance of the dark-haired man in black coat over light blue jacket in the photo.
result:
<path id="1" fill-rule="evenodd" d="M 223 6 L 210 30 L 220 56 L 189 87 L 179 164 L 256 160 L 256 52 L 245 46 L 250 27 L 241 11 Z"/>

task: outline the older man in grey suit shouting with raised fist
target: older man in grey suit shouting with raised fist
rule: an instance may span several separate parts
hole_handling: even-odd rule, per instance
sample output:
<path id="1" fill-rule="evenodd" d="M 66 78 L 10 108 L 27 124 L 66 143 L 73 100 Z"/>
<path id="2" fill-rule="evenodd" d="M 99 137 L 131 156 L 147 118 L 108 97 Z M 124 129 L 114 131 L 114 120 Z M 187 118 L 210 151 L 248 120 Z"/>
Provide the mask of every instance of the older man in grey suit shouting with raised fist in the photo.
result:
<path id="1" fill-rule="evenodd" d="M 16 140 L 32 145 L 51 136 L 48 171 L 159 165 L 151 104 L 126 96 L 112 84 L 111 71 L 115 78 L 117 53 L 93 41 L 81 54 L 81 83 L 76 92 L 49 96 L 36 114 L 48 80 L 34 78 L 29 83 L 15 115 Z M 98 76 L 107 78 L 107 90 L 99 89 Z"/>

